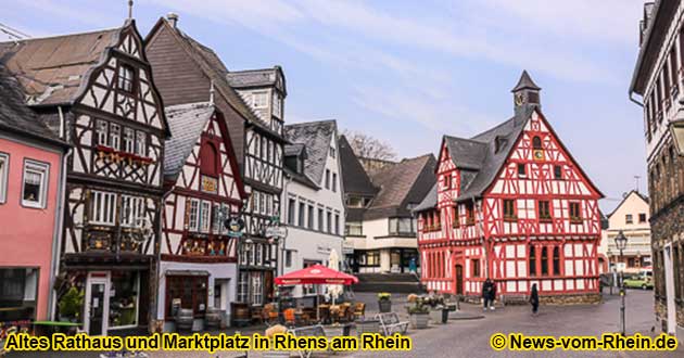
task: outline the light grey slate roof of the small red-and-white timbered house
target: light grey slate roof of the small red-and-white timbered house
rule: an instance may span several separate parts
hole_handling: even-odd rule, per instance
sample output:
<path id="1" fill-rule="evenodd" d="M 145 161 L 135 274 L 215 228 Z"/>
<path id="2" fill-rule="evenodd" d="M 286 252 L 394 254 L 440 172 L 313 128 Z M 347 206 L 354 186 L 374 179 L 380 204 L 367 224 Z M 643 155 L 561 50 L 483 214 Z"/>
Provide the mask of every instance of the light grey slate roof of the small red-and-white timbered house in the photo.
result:
<path id="1" fill-rule="evenodd" d="M 167 106 L 172 138 L 165 142 L 164 177 L 175 181 L 216 108 L 208 102 Z"/>

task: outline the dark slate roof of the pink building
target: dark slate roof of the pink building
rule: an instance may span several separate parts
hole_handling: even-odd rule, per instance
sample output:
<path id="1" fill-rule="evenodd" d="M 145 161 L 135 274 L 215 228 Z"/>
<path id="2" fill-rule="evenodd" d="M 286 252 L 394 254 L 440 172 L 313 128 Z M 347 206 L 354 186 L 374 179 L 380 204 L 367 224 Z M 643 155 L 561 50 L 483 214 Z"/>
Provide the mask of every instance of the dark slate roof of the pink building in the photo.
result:
<path id="1" fill-rule="evenodd" d="M 68 146 L 24 102 L 20 82 L 0 64 L 0 129 Z"/>

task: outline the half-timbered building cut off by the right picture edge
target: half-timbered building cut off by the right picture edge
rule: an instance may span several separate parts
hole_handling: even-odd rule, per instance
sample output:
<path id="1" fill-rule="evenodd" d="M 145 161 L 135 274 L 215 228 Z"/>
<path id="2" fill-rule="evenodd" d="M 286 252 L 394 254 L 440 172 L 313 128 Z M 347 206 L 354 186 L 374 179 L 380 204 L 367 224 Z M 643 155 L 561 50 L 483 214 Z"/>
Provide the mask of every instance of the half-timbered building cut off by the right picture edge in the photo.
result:
<path id="1" fill-rule="evenodd" d="M 684 118 L 684 7 L 682 1 L 644 5 L 639 52 L 630 95 L 639 95 L 644 108 L 644 137 L 648 163 L 650 230 L 656 317 L 668 333 L 684 327 L 684 138 L 675 122 Z M 680 135 L 681 136 L 681 135 Z"/>

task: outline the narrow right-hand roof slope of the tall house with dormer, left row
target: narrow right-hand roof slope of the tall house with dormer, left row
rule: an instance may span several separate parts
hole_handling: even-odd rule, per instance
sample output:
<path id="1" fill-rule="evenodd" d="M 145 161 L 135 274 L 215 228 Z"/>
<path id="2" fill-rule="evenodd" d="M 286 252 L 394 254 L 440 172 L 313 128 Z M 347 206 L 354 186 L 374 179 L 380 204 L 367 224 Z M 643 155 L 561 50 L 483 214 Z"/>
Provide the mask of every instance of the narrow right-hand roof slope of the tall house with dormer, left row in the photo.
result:
<path id="1" fill-rule="evenodd" d="M 220 93 L 226 102 L 228 102 L 228 105 L 237 111 L 249 124 L 258 127 L 261 130 L 270 133 L 273 137 L 281 138 L 279 133 L 268 128 L 258 118 L 258 116 L 254 114 L 252 108 L 244 103 L 240 94 L 238 94 L 230 86 L 227 77 L 228 68 L 223 61 L 220 61 L 214 50 L 194 40 L 179 28 L 172 26 L 164 17 L 160 17 L 145 37 L 144 42 L 149 42 L 152 37 L 154 37 L 154 34 L 160 31 L 162 28 L 168 30 L 168 33 L 174 36 L 177 43 L 179 43 L 190 59 L 198 64 L 198 67 L 214 81 L 216 91 Z"/>

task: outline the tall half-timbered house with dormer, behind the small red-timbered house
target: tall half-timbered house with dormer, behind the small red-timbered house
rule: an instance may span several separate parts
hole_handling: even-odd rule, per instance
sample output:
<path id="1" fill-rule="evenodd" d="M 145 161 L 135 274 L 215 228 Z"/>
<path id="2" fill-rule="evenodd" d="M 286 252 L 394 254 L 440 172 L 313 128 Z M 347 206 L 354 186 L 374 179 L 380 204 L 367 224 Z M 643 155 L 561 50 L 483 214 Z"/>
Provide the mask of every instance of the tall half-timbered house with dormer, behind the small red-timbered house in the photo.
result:
<path id="1" fill-rule="evenodd" d="M 215 105 L 228 127 L 249 197 L 235 302 L 258 307 L 273 297 L 277 267 L 277 248 L 265 230 L 280 215 L 287 94 L 282 71 L 229 72 L 212 49 L 179 29 L 175 14 L 157 21 L 145 47 L 165 104 L 206 101 L 214 84 Z"/>

